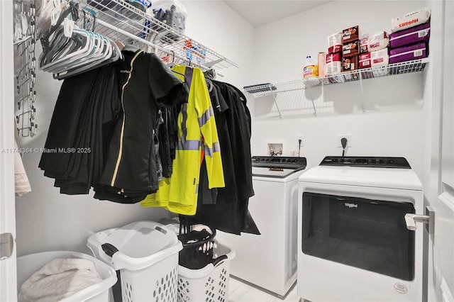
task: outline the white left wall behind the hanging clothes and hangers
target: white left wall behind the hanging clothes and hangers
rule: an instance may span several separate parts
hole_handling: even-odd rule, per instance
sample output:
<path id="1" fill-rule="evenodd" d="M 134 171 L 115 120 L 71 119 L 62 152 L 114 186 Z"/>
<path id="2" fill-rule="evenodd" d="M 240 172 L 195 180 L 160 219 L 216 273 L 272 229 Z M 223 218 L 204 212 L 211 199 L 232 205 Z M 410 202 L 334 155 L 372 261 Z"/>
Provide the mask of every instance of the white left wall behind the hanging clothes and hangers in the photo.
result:
<path id="1" fill-rule="evenodd" d="M 238 86 L 246 83 L 252 74 L 253 27 L 222 1 L 184 1 L 184 6 L 188 11 L 186 34 L 242 66 L 219 71 L 225 75 L 219 79 Z M 243 45 L 245 49 L 232 45 Z M 21 147 L 44 146 L 60 85 L 61 82 L 52 79 L 52 74 L 37 72 L 35 123 L 39 127 L 38 135 L 20 138 Z M 161 208 L 98 201 L 92 198 L 93 194 L 60 194 L 53 180 L 44 177 L 38 169 L 39 160 L 40 153 L 23 157 L 32 193 L 16 198 L 18 256 L 48 250 L 89 252 L 86 242 L 94 232 L 167 216 L 168 212 Z"/>

